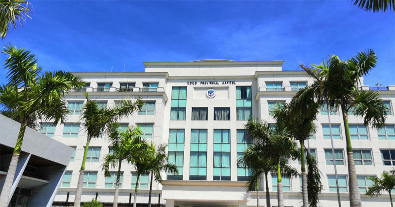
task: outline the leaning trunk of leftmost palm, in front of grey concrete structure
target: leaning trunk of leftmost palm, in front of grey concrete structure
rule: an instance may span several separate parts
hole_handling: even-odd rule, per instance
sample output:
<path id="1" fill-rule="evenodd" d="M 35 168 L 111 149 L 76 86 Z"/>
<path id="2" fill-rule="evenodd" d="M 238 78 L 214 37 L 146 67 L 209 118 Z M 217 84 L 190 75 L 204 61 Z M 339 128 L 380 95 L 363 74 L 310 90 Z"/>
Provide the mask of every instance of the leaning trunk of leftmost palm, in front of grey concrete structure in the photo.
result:
<path id="1" fill-rule="evenodd" d="M 11 187 L 14 182 L 16 168 L 19 161 L 19 155 L 21 154 L 22 140 L 25 136 L 26 126 L 28 122 L 24 119 L 21 123 L 21 128 L 19 129 L 18 139 L 16 140 L 14 152 L 12 153 L 11 162 L 5 177 L 3 188 L 1 189 L 0 195 L 0 207 L 8 206 L 8 198 L 11 194 Z"/>

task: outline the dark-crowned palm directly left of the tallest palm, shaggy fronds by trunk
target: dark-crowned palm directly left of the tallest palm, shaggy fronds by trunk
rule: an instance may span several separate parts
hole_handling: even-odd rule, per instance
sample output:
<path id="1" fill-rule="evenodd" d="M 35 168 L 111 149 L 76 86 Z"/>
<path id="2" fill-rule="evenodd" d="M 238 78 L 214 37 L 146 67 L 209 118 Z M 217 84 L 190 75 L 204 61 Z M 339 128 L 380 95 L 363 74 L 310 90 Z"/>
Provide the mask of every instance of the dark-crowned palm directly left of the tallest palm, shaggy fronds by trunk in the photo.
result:
<path id="1" fill-rule="evenodd" d="M 294 102 L 291 102 L 291 104 L 295 104 Z M 308 111 L 298 111 L 298 112 L 290 112 L 290 109 L 292 108 L 288 104 L 278 104 L 277 107 L 275 107 L 274 110 L 274 118 L 276 119 L 277 125 L 284 124 L 286 126 L 286 129 L 290 132 L 292 137 L 299 141 L 300 143 L 300 152 L 301 152 L 301 174 L 302 174 L 302 198 L 303 198 L 303 207 L 308 207 L 309 206 L 309 201 L 315 201 L 314 204 L 311 204 L 311 206 L 316 206 L 318 202 L 318 193 L 322 189 L 321 187 L 318 188 L 313 188 L 310 186 L 308 188 L 308 182 L 307 182 L 307 175 L 306 175 L 306 164 L 305 164 L 305 152 L 308 154 L 307 150 L 305 150 L 305 140 L 309 139 L 310 135 L 315 132 L 315 126 L 314 126 L 314 121 L 316 120 L 316 114 L 318 113 L 318 107 L 319 105 L 316 103 L 312 103 L 307 106 Z M 291 115 L 291 114 L 295 115 Z M 315 159 L 313 156 L 310 159 Z M 309 173 L 316 173 L 319 172 L 316 162 L 311 161 L 309 162 L 310 165 L 309 168 L 315 168 L 309 171 Z M 310 175 L 312 177 L 314 175 Z M 320 177 L 320 175 L 318 174 Z M 315 175 L 316 177 L 316 175 Z M 310 184 L 313 184 L 314 186 L 317 186 L 315 181 L 316 179 L 313 179 L 310 181 Z M 319 181 L 319 180 L 318 180 Z M 320 182 L 320 181 L 319 181 Z M 309 190 L 310 191 L 309 191 Z M 316 192 L 315 190 L 318 190 Z M 309 199 L 309 196 L 315 196 L 315 199 Z"/>

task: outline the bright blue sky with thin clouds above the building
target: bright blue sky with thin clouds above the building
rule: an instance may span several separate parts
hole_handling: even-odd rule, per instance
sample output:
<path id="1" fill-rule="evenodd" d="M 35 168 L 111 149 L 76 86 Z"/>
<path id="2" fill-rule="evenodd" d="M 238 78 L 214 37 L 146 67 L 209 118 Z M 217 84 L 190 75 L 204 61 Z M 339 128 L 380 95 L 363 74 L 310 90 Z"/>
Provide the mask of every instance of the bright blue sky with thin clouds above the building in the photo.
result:
<path id="1" fill-rule="evenodd" d="M 365 85 L 395 85 L 395 13 L 351 1 L 31 2 L 32 19 L 1 45 L 31 50 L 44 70 L 123 71 L 126 61 L 125 71 L 144 71 L 143 62 L 201 59 L 284 60 L 283 70 L 300 70 L 372 48 L 378 64 Z"/>

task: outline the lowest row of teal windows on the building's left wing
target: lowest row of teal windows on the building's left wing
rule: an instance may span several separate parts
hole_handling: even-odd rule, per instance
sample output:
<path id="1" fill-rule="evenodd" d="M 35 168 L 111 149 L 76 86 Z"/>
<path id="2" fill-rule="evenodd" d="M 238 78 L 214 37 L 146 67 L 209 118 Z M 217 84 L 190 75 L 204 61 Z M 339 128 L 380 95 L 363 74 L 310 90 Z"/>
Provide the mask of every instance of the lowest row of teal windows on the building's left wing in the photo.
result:
<path id="1" fill-rule="evenodd" d="M 72 171 L 66 171 L 63 175 L 61 187 L 70 187 L 70 183 L 72 180 Z M 110 172 L 110 177 L 104 178 L 104 187 L 105 188 L 115 188 L 117 184 L 117 173 L 118 172 Z M 76 177 L 75 179 L 78 179 Z M 97 182 L 97 172 L 84 172 L 82 187 L 84 188 L 95 188 Z M 119 188 L 122 188 L 123 182 L 123 172 L 119 174 Z M 132 172 L 131 176 L 131 185 L 130 188 L 134 189 L 137 183 L 137 173 Z M 139 177 L 138 187 L 139 189 L 148 189 L 149 186 L 149 174 L 141 174 Z"/>

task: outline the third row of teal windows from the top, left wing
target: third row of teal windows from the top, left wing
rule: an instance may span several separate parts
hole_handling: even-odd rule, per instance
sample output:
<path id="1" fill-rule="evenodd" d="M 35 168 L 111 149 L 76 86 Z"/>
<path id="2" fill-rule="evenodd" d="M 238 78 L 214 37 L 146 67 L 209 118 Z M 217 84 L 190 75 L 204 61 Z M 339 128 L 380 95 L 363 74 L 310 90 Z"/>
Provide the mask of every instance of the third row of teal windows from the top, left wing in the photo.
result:
<path id="1" fill-rule="evenodd" d="M 144 138 L 152 138 L 154 133 L 154 124 L 151 123 L 138 123 L 136 124 L 142 130 L 141 136 Z M 129 123 L 119 123 L 119 131 L 124 132 L 129 128 Z M 40 133 L 44 134 L 48 137 L 53 137 L 55 134 L 56 126 L 53 123 L 41 123 Z M 64 124 L 63 127 L 63 138 L 78 138 L 80 131 L 80 124 Z M 98 138 L 101 138 L 102 134 L 100 133 Z"/>

